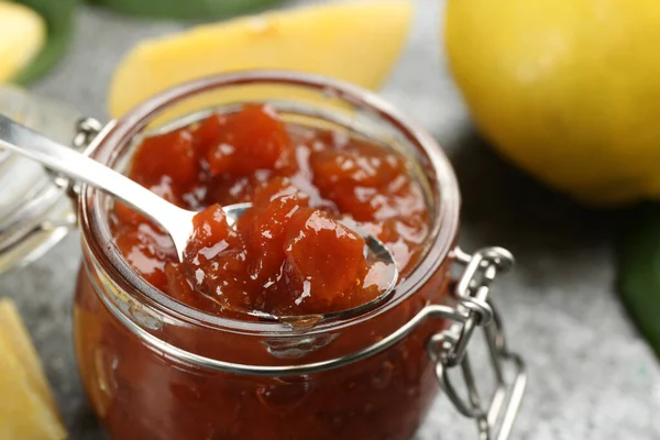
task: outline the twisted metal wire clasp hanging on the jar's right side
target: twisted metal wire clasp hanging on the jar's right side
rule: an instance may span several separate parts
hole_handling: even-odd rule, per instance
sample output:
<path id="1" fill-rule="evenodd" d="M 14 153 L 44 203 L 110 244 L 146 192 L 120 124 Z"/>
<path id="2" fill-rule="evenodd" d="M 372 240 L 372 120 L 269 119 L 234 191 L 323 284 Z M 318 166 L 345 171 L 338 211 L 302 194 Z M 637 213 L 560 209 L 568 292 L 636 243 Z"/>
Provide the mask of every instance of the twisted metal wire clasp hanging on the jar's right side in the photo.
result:
<path id="1" fill-rule="evenodd" d="M 466 314 L 466 318 L 431 337 L 429 355 L 436 362 L 440 387 L 459 413 L 476 421 L 480 440 L 506 440 L 520 407 L 527 374 L 522 360 L 509 352 L 505 344 L 502 320 L 488 299 L 488 292 L 497 274 L 513 266 L 514 257 L 502 248 L 483 249 L 474 255 L 457 249 L 453 256 L 465 267 L 458 279 L 455 297 L 457 309 Z M 495 392 L 487 407 L 480 396 L 466 350 L 477 328 L 484 331 L 496 381 Z M 505 377 L 506 364 L 510 364 L 514 370 L 513 380 L 508 382 Z M 466 398 L 461 397 L 449 376 L 449 371 L 455 366 L 461 369 Z"/>

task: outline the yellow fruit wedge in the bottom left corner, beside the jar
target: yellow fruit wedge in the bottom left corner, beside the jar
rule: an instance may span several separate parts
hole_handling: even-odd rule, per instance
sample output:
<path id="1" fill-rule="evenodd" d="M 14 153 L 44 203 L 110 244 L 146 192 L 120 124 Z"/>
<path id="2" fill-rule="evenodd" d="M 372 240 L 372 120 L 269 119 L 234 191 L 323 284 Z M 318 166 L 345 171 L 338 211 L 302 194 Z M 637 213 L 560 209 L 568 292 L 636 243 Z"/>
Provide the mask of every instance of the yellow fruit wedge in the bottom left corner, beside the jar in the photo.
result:
<path id="1" fill-rule="evenodd" d="M 7 299 L 0 301 L 0 439 L 65 439 L 36 352 Z"/>

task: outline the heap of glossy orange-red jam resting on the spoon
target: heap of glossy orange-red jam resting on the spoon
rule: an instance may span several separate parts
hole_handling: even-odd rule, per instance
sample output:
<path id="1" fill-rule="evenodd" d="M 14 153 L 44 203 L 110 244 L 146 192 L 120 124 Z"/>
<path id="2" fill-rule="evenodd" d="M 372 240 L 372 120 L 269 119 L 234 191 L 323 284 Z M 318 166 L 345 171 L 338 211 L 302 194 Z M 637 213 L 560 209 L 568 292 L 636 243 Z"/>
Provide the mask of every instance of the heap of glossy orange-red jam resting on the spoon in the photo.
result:
<path id="1" fill-rule="evenodd" d="M 363 287 L 370 268 L 364 239 L 295 196 L 257 205 L 237 231 L 220 205 L 198 213 L 194 223 L 183 270 L 195 290 L 229 310 L 326 314 L 384 290 Z"/>

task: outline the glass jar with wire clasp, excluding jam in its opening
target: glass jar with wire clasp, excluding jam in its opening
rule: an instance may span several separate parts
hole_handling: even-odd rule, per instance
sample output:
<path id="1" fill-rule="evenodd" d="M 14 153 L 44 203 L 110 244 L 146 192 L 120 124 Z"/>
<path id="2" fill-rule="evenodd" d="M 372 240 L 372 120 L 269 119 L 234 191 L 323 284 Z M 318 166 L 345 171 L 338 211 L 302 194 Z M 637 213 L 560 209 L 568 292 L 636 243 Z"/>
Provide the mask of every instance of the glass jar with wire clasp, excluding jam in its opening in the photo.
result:
<path id="1" fill-rule="evenodd" d="M 385 304 L 358 316 L 302 323 L 246 322 L 191 309 L 157 290 L 112 244 L 111 199 L 77 194 L 84 261 L 74 332 L 95 411 L 116 439 L 407 440 L 439 386 L 506 439 L 526 376 L 507 351 L 488 290 L 512 264 L 505 250 L 457 248 L 460 196 L 432 136 L 378 97 L 336 80 L 282 72 L 237 73 L 167 90 L 106 125 L 86 153 L 123 170 L 144 134 L 210 112 L 268 102 L 285 121 L 367 136 L 403 153 L 425 190 L 425 252 Z M 455 268 L 459 268 L 457 273 Z M 483 329 L 496 388 L 479 398 L 466 346 Z M 503 365 L 514 366 L 512 381 Z M 468 399 L 448 371 L 460 366 Z"/>

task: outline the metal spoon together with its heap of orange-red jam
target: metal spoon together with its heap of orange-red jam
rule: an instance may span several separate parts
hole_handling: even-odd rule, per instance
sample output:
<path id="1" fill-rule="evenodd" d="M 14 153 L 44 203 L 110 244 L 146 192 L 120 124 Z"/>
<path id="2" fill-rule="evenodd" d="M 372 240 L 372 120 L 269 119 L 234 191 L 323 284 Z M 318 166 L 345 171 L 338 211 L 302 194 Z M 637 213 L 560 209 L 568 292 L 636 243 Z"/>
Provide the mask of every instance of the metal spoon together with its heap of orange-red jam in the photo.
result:
<path id="1" fill-rule="evenodd" d="M 1 116 L 0 147 L 94 186 L 153 220 L 172 239 L 191 293 L 223 309 L 294 320 L 301 314 L 289 311 L 305 301 L 307 315 L 333 317 L 373 307 L 396 286 L 394 257 L 375 235 L 350 218 L 309 207 L 295 191 L 265 191 L 253 202 L 215 204 L 198 212 Z M 249 295 L 255 289 L 261 295 Z"/>

